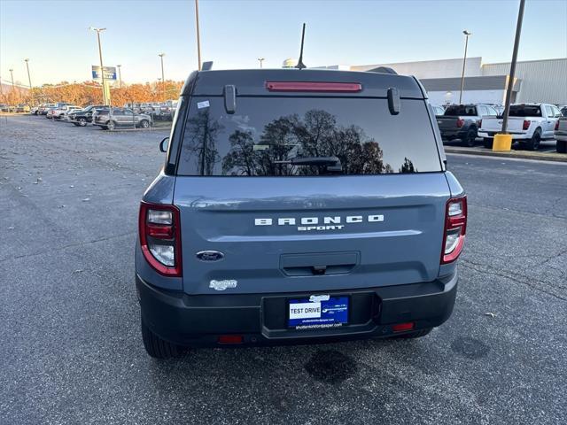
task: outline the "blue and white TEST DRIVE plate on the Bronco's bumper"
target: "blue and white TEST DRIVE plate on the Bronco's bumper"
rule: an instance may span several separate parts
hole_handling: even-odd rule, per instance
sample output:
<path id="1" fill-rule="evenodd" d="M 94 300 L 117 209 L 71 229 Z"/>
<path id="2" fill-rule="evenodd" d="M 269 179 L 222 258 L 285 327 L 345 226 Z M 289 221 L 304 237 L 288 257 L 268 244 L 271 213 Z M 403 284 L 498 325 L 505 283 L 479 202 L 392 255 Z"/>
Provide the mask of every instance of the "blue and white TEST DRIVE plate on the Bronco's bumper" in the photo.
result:
<path id="1" fill-rule="evenodd" d="M 289 300 L 289 328 L 338 328 L 346 323 L 348 323 L 348 297 L 317 295 Z"/>

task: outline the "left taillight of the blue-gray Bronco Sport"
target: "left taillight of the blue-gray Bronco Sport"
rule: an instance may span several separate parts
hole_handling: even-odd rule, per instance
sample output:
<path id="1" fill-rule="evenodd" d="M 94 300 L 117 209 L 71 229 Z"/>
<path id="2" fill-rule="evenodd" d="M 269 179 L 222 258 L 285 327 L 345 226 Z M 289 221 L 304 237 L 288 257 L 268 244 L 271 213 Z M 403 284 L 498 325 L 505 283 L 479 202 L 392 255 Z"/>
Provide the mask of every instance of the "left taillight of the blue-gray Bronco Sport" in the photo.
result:
<path id="1" fill-rule="evenodd" d="M 181 228 L 177 207 L 141 203 L 138 228 L 144 259 L 159 274 L 180 277 Z"/>

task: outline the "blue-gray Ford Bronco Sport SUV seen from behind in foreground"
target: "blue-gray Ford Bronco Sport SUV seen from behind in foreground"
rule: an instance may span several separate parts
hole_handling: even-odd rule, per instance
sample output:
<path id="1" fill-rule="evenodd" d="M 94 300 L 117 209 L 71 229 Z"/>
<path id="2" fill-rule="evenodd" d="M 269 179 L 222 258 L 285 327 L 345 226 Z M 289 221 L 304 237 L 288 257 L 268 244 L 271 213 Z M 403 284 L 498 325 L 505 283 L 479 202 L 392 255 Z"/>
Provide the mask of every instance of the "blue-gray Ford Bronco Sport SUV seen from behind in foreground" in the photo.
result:
<path id="1" fill-rule="evenodd" d="M 467 198 L 414 77 L 192 73 L 140 204 L 155 358 L 425 336 L 453 311 Z"/>

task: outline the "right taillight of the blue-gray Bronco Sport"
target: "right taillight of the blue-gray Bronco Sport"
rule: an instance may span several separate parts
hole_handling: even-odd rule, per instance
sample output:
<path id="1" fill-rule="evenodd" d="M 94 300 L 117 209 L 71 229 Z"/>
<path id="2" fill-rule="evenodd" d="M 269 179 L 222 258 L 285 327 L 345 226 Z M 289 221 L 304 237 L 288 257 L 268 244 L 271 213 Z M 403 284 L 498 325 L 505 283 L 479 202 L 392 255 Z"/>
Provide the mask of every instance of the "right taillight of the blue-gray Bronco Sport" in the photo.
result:
<path id="1" fill-rule="evenodd" d="M 467 197 L 454 197 L 447 201 L 441 264 L 459 258 L 467 232 Z"/>

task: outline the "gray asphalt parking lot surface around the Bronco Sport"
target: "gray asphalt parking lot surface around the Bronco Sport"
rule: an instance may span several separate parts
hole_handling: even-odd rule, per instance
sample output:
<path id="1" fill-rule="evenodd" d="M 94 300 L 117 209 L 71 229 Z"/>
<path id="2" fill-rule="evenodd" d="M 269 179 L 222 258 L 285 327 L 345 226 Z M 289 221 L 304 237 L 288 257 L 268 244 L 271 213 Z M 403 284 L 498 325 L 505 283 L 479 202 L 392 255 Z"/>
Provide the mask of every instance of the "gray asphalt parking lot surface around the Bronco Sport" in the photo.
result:
<path id="1" fill-rule="evenodd" d="M 166 135 L 0 119 L 0 423 L 565 423 L 566 164 L 448 156 L 469 228 L 429 336 L 159 362 L 133 251 Z"/>

